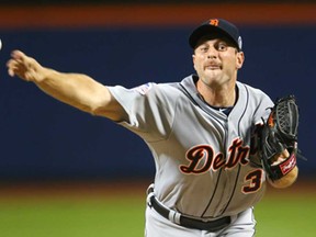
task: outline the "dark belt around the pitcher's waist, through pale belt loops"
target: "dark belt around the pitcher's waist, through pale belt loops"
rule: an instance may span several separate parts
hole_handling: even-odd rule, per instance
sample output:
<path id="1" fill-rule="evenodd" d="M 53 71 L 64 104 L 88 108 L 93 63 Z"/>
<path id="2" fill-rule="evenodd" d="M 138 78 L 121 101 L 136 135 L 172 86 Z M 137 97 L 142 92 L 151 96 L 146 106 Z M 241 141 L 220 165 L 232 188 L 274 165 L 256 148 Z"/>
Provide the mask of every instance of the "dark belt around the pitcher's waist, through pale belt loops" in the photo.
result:
<path id="1" fill-rule="evenodd" d="M 153 184 L 148 188 L 147 193 L 148 193 L 148 196 L 147 196 L 148 206 L 150 208 L 153 207 L 157 213 L 159 213 L 165 218 L 180 226 L 183 226 L 187 228 L 201 229 L 201 230 L 218 232 L 219 229 L 227 227 L 232 223 L 230 216 L 225 216 L 225 217 L 222 217 L 215 221 L 208 221 L 208 222 L 183 216 L 181 213 L 166 207 L 156 199 L 156 196 L 154 195 Z"/>

